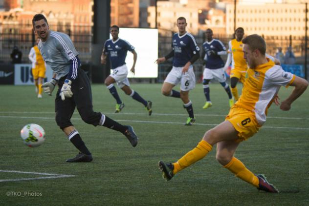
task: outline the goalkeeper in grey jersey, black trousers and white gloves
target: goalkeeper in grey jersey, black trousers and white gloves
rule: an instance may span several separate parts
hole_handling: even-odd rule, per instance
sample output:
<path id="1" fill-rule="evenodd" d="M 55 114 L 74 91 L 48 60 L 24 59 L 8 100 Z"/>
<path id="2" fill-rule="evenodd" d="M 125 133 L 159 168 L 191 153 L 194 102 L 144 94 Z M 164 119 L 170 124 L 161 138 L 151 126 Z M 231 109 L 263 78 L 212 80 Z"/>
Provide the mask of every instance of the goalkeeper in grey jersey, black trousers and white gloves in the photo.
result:
<path id="1" fill-rule="evenodd" d="M 35 15 L 32 24 L 35 33 L 41 39 L 38 47 L 43 59 L 55 73 L 50 82 L 42 85 L 43 90 L 51 95 L 55 85 L 58 84 L 55 99 L 56 123 L 65 132 L 68 140 L 79 150 L 76 157 L 66 162 L 92 161 L 91 153 L 70 121 L 75 107 L 84 122 L 117 130 L 128 138 L 132 146 L 136 146 L 138 138 L 132 126 L 119 124 L 104 114 L 93 111 L 90 82 L 81 69 L 78 52 L 69 36 L 50 31 L 47 20 L 42 14 Z"/>

